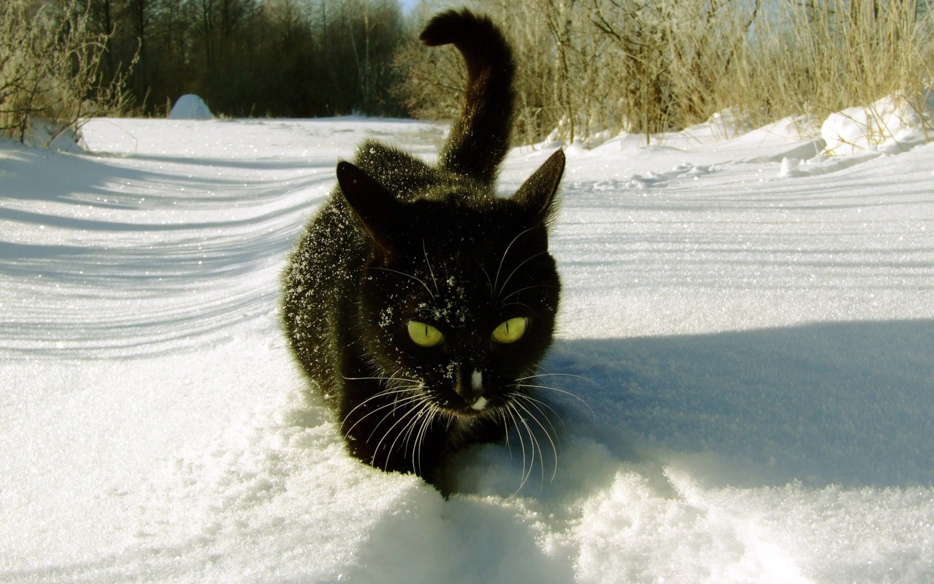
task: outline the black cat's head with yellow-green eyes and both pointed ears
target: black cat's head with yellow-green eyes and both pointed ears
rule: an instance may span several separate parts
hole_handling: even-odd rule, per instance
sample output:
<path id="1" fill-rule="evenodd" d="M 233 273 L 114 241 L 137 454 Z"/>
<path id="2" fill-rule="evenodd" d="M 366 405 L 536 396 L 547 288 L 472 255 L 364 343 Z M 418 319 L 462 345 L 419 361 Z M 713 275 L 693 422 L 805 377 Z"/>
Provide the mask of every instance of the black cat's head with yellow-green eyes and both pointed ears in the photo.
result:
<path id="1" fill-rule="evenodd" d="M 551 344 L 559 304 L 547 227 L 563 171 L 558 151 L 509 198 L 455 187 L 403 203 L 360 168 L 338 165 L 373 241 L 361 341 L 401 394 L 461 417 L 498 417 L 533 385 L 523 377 Z"/>

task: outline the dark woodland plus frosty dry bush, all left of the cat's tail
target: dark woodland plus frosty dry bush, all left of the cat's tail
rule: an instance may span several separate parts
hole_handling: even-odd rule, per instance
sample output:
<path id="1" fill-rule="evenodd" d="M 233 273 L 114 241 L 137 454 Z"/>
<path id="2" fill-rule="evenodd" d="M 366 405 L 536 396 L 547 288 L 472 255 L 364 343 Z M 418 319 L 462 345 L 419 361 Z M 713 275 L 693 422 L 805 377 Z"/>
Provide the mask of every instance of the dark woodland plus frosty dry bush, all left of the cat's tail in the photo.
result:
<path id="1" fill-rule="evenodd" d="M 408 35 L 396 0 L 0 0 L 0 135 L 163 116 L 184 93 L 227 116 L 405 116 Z"/>

